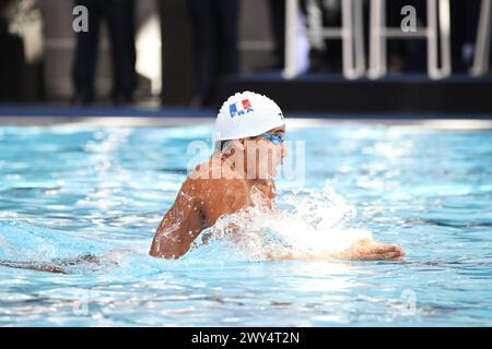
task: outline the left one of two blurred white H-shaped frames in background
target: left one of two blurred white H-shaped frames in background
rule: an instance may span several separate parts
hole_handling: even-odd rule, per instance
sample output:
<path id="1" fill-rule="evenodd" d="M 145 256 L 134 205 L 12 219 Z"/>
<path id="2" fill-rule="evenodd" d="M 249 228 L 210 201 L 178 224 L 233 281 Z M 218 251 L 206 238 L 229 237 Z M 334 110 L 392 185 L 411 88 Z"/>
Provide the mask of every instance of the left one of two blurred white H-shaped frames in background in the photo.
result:
<path id="1" fill-rule="evenodd" d="M 298 0 L 286 0 L 285 10 L 285 69 L 284 77 L 293 79 L 301 73 L 296 47 L 298 28 Z M 363 3 L 362 0 L 342 0 L 342 26 L 326 28 L 323 14 L 314 0 L 307 1 L 307 36 L 313 47 L 319 47 L 327 38 L 342 40 L 343 75 L 356 79 L 365 73 Z"/>

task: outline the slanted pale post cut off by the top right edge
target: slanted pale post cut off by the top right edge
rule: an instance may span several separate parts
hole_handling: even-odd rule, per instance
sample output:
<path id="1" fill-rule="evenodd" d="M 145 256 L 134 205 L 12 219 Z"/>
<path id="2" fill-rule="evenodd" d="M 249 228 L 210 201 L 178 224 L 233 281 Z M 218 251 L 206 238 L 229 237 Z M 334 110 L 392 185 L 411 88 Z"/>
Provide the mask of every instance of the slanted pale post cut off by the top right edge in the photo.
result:
<path id="1" fill-rule="evenodd" d="M 477 31 L 477 44 L 475 46 L 473 67 L 471 75 L 481 76 L 489 70 L 490 58 L 490 32 L 492 31 L 492 0 L 482 0 L 480 21 Z"/>

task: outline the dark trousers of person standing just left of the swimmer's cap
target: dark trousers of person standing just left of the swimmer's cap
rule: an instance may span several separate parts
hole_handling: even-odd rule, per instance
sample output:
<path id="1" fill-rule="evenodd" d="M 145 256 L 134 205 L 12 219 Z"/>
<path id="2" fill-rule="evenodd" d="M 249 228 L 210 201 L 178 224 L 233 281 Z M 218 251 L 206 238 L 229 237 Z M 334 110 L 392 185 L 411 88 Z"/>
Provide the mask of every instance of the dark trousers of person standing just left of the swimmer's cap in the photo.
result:
<path id="1" fill-rule="evenodd" d="M 238 71 L 237 0 L 189 0 L 194 35 L 195 96 L 202 105 L 215 99 L 220 76 Z"/>

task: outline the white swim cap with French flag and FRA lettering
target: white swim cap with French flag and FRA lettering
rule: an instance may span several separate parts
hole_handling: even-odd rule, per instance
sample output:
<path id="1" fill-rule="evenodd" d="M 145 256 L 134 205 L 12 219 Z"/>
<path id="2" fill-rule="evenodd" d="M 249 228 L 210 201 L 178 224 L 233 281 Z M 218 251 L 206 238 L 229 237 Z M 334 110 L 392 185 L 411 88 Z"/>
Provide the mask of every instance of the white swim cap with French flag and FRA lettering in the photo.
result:
<path id="1" fill-rule="evenodd" d="M 284 124 L 282 110 L 273 100 L 246 91 L 222 105 L 215 120 L 215 141 L 253 137 Z"/>

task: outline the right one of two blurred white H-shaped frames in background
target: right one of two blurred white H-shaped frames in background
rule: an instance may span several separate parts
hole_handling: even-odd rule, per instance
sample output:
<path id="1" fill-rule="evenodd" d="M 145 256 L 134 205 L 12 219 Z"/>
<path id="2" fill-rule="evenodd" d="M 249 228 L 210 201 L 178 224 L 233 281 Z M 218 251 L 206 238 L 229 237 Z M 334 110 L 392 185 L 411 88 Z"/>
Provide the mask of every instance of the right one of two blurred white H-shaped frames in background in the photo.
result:
<path id="1" fill-rule="evenodd" d="M 438 5 L 437 5 L 438 1 Z M 452 73 L 449 0 L 427 0 L 427 26 L 405 33 L 400 27 L 386 26 L 386 0 L 371 0 L 370 69 L 371 79 L 386 74 L 386 41 L 393 39 L 427 39 L 427 74 L 443 79 Z M 441 39 L 441 62 L 438 62 Z"/>

